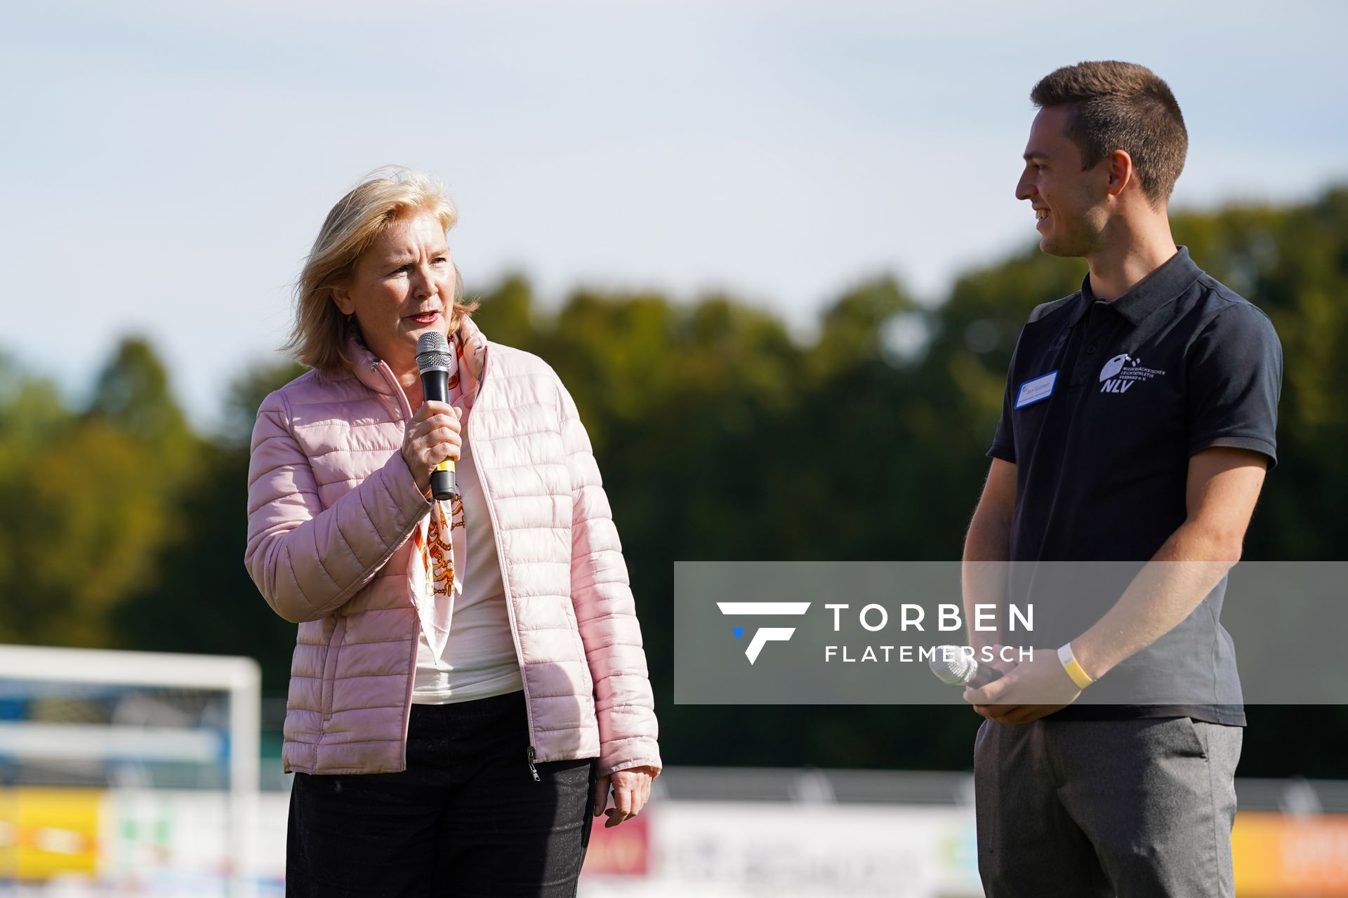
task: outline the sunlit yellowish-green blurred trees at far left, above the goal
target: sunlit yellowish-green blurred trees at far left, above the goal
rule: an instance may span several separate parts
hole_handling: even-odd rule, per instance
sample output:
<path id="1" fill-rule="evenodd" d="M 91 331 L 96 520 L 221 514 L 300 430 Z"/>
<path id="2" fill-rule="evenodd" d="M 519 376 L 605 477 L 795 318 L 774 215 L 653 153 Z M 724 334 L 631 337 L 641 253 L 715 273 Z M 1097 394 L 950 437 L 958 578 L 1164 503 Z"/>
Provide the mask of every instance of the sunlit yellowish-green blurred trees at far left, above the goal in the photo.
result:
<path id="1" fill-rule="evenodd" d="M 12 366 L 3 380 L 0 640 L 117 645 L 111 615 L 162 579 L 158 555 L 186 526 L 179 498 L 205 443 L 140 339 L 121 342 L 84 411 Z"/>

